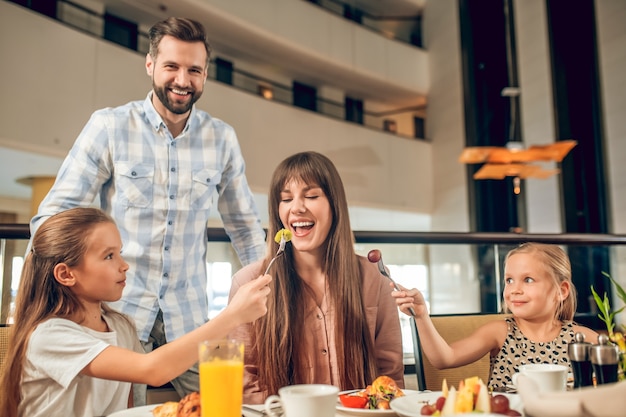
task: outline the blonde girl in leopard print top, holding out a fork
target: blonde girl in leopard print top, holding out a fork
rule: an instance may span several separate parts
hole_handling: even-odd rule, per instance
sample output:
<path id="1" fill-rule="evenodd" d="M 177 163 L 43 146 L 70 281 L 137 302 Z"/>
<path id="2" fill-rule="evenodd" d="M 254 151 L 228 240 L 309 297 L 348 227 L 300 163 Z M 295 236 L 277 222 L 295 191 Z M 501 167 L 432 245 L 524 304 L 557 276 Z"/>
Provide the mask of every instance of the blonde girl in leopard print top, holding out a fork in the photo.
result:
<path id="1" fill-rule="evenodd" d="M 510 318 L 480 327 L 465 339 L 448 344 L 433 326 L 422 294 L 416 290 L 396 291 L 392 296 L 400 309 L 416 313 L 415 322 L 422 349 L 437 368 L 455 368 L 489 353 L 489 387 L 505 391 L 512 375 L 528 363 L 569 365 L 567 345 L 581 332 L 597 341 L 597 333 L 572 320 L 576 312 L 576 289 L 567 254 L 558 246 L 525 243 L 505 259 L 504 303 Z"/>

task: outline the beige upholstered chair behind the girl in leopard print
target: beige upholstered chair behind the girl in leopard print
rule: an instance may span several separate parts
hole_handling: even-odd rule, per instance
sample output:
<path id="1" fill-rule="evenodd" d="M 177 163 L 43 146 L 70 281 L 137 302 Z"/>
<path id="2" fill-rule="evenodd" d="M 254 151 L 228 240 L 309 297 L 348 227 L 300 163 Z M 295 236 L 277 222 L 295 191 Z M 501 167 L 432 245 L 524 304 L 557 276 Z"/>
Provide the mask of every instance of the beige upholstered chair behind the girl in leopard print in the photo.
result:
<path id="1" fill-rule="evenodd" d="M 454 342 L 472 334 L 478 327 L 492 320 L 504 320 L 509 315 L 506 314 L 461 314 L 450 316 L 432 316 L 431 319 L 435 328 L 441 336 L 448 342 Z M 458 388 L 462 379 L 479 376 L 487 384 L 489 382 L 489 354 L 480 360 L 469 365 L 453 369 L 437 369 L 431 365 L 425 355 L 421 353 L 419 335 L 416 332 L 415 322 L 411 320 L 413 326 L 413 349 L 415 351 L 415 362 L 419 389 L 429 389 L 440 391 L 441 384 L 446 379 L 448 387 Z M 420 377 L 421 373 L 421 377 Z"/>

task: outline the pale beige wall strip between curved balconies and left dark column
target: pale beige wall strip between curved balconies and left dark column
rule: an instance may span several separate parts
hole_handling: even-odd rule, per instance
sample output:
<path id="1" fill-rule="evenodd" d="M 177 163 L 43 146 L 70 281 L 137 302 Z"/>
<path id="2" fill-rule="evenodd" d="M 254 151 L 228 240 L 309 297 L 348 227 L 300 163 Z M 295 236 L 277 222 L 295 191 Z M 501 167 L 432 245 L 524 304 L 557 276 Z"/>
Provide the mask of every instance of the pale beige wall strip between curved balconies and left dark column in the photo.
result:
<path id="1" fill-rule="evenodd" d="M 457 0 L 429 1 L 424 12 L 431 87 L 426 136 L 433 143 L 433 230 L 469 231 L 462 68 Z M 471 248 L 432 245 L 429 252 L 433 314 L 480 311 Z"/>

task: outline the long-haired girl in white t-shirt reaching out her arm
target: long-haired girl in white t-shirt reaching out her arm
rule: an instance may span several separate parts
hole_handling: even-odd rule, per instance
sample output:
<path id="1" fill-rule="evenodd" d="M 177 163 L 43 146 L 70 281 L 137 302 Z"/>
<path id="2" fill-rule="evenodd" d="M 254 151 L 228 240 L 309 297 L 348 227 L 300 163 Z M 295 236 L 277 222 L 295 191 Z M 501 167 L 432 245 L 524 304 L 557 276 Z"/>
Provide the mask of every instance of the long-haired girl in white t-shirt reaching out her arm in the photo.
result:
<path id="1" fill-rule="evenodd" d="M 132 406 L 131 383 L 159 386 L 198 360 L 198 344 L 266 313 L 265 275 L 210 322 L 150 353 L 135 326 L 106 305 L 128 264 L 113 220 L 96 208 L 50 217 L 27 254 L 0 386 L 0 415 L 102 416 Z M 242 291 L 243 290 L 243 291 Z"/>

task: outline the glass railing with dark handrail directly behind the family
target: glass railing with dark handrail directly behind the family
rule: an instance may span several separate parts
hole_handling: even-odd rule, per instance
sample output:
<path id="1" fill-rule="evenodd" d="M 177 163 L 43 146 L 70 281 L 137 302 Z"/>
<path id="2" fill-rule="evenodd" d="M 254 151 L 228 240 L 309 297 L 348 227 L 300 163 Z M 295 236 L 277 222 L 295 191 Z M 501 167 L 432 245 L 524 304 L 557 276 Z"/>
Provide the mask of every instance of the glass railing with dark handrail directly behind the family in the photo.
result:
<path id="1" fill-rule="evenodd" d="M 379 249 L 391 276 L 401 285 L 418 288 L 432 314 L 494 313 L 502 310 L 502 269 L 506 253 L 522 242 L 558 244 L 568 252 L 576 284 L 576 321 L 595 329 L 604 328 L 590 297 L 591 285 L 611 297 L 603 272 L 617 280 L 626 274 L 626 235 L 514 234 L 438 232 L 354 232 L 355 249 L 366 256 Z M 0 323 L 10 322 L 13 299 L 19 283 L 23 255 L 29 237 L 28 225 L 0 224 L 2 297 Z M 231 276 L 241 265 L 223 229 L 208 229 L 207 297 L 209 317 L 226 305 Z M 623 280 L 622 280 L 623 282 Z M 619 306 L 618 303 L 613 303 Z M 412 359 L 408 317 L 400 314 L 405 357 Z"/>

